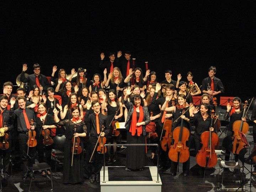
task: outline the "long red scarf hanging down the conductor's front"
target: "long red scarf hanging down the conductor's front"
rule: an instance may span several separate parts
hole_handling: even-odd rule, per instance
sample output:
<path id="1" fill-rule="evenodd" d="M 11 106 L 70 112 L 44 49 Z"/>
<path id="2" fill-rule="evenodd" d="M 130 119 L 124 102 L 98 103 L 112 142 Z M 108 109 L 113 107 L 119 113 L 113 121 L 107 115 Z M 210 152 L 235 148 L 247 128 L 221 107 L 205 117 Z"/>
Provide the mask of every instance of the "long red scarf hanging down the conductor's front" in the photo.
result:
<path id="1" fill-rule="evenodd" d="M 132 133 L 132 136 L 135 135 L 136 133 L 136 129 L 137 129 L 137 135 L 140 136 L 140 134 L 142 134 L 142 126 L 136 127 L 137 124 L 137 113 L 136 113 L 136 107 L 133 106 L 133 114 L 132 114 L 132 122 L 130 124 L 130 130 L 129 132 Z M 139 121 L 138 123 L 141 123 L 143 121 L 143 107 L 139 106 Z"/>

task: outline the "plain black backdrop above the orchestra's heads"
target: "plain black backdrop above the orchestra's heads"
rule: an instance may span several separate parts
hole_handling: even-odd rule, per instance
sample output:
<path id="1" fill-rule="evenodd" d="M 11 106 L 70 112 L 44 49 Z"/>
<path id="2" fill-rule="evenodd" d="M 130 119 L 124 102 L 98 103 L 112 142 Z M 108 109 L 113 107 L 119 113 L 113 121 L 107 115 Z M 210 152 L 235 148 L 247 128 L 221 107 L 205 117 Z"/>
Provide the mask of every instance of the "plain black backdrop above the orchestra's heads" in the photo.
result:
<path id="1" fill-rule="evenodd" d="M 16 85 L 23 63 L 28 74 L 39 63 L 46 76 L 57 65 L 68 74 L 82 66 L 91 77 L 102 74 L 101 52 L 108 58 L 112 50 L 130 50 L 143 71 L 149 62 L 159 80 L 165 69 L 174 80 L 178 73 L 186 80 L 192 71 L 200 86 L 215 65 L 223 96 L 256 96 L 255 1 L 202 2 L 1 1 L 0 86 Z"/>

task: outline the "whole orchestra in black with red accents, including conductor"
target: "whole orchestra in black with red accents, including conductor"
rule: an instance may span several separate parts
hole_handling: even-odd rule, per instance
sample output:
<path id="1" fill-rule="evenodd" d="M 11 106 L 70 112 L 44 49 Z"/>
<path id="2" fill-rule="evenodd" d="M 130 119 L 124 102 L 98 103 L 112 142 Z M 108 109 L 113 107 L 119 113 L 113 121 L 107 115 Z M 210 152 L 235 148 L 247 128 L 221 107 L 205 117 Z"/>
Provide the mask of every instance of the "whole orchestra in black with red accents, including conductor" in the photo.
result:
<path id="1" fill-rule="evenodd" d="M 32 167 L 35 159 L 50 165 L 53 140 L 59 132 L 65 135 L 63 183 L 82 183 L 85 178 L 91 183 L 99 183 L 103 151 L 107 153 L 107 164 L 118 161 L 117 146 L 104 149 L 105 143 L 120 144 L 125 149 L 127 171 L 143 170 L 150 149 L 151 159 L 159 155 L 160 166 L 169 162 L 171 175 L 177 175 L 178 163 L 182 163 L 182 174 L 187 176 L 192 146 L 197 153 L 198 174 L 202 176 L 205 167 L 216 165 L 214 149 L 219 147 L 216 107 L 224 93 L 222 81 L 215 77 L 216 68 L 208 69 L 208 77 L 199 87 L 199 82 L 193 82 L 190 71 L 183 79 L 178 74 L 175 81 L 171 70 L 156 74 L 146 63 L 144 76 L 142 66 L 136 64 L 129 51 L 124 52 L 123 60 L 121 56 L 121 51 L 117 55 L 112 52 L 106 59 L 101 53 L 100 71 L 92 75 L 92 80 L 87 78 L 82 67 L 77 71 L 72 69 L 67 76 L 65 69 L 53 66 L 50 82 L 40 73 L 39 64 L 33 65 L 31 75 L 25 74 L 27 64 L 23 64 L 20 81 L 27 85 L 26 89 L 19 87 L 14 94 L 12 82 L 4 83 L 0 97 L 4 180 L 8 180 L 10 155 L 14 151 L 18 151 L 21 161 L 27 162 L 22 167 L 23 179 L 34 178 L 27 172 L 27 166 Z M 58 75 L 55 75 L 57 70 Z M 165 80 L 159 82 L 163 75 Z M 61 104 L 55 95 L 61 97 Z M 197 106 L 193 104 L 192 96 L 195 95 L 202 95 Z M 235 155 L 235 161 L 238 161 L 239 152 L 246 148 L 239 132 L 244 133 L 243 126 L 249 121 L 246 105 L 235 97 L 233 107 L 227 103 L 224 115 L 230 122 L 223 147 L 226 154 Z M 255 106 L 251 121 L 256 144 Z M 125 128 L 116 128 L 117 122 L 125 122 Z M 160 154 L 153 146 L 122 146 L 121 139 L 127 144 L 159 144 Z M 225 160 L 228 161 L 229 156 L 225 156 Z M 51 174 L 50 170 L 41 172 L 43 177 Z"/>

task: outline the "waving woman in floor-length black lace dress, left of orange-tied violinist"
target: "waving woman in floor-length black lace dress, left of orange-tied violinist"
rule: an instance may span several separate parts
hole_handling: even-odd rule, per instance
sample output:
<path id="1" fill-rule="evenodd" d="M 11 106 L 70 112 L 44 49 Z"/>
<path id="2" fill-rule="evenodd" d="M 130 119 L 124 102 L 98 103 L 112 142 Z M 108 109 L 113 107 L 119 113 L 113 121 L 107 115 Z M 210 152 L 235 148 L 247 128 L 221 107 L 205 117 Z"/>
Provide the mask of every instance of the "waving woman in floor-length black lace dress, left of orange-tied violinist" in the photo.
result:
<path id="1" fill-rule="evenodd" d="M 73 145 L 73 137 L 86 137 L 87 127 L 85 122 L 79 119 L 80 110 L 78 106 L 71 109 L 73 118 L 60 121 L 56 109 L 54 112 L 54 121 L 60 126 L 66 126 L 65 143 L 64 143 L 64 165 L 63 165 L 63 183 L 82 183 L 83 182 L 83 169 L 84 169 L 84 152 L 73 156 L 73 166 L 71 166 Z M 76 126 L 76 133 L 74 132 Z M 83 148 L 82 142 L 80 142 Z"/>

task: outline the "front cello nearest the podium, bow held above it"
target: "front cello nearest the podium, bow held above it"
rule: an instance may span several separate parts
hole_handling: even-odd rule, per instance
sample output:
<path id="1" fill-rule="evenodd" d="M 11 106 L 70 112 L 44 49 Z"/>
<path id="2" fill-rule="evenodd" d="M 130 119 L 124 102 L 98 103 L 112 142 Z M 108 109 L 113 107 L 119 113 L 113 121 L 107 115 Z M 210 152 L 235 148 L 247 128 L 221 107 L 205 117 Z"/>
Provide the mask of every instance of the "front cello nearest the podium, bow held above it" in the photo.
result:
<path id="1" fill-rule="evenodd" d="M 183 114 L 185 114 L 185 109 L 182 111 Z M 172 132 L 174 144 L 171 145 L 168 156 L 174 162 L 186 162 L 190 156 L 190 151 L 186 146 L 186 141 L 190 137 L 190 131 L 188 128 L 183 127 L 183 121 L 184 119 L 181 119 L 180 127 L 176 127 Z"/>

